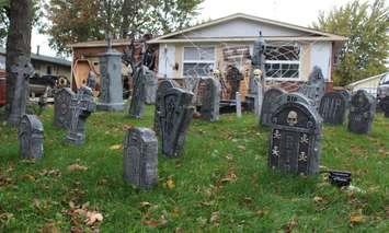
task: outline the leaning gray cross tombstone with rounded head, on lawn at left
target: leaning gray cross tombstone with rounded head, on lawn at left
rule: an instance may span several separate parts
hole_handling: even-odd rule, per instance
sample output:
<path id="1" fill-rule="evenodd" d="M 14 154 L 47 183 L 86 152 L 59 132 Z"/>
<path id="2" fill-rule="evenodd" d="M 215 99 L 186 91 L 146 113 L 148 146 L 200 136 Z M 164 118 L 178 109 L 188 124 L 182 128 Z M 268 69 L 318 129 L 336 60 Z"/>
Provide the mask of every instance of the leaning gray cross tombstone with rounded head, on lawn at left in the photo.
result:
<path id="1" fill-rule="evenodd" d="M 71 100 L 70 108 L 72 115 L 66 142 L 81 145 L 85 140 L 85 121 L 95 110 L 92 90 L 89 86 L 79 89 Z"/>

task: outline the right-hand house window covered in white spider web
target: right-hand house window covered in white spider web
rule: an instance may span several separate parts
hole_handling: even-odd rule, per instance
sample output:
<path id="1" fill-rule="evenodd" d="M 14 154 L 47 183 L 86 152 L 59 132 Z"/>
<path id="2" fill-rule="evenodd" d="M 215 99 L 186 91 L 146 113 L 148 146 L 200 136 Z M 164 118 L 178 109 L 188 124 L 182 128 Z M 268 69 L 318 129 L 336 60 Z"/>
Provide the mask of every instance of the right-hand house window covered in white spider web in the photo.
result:
<path id="1" fill-rule="evenodd" d="M 266 78 L 298 79 L 300 47 L 295 44 L 270 44 L 265 49 Z"/>

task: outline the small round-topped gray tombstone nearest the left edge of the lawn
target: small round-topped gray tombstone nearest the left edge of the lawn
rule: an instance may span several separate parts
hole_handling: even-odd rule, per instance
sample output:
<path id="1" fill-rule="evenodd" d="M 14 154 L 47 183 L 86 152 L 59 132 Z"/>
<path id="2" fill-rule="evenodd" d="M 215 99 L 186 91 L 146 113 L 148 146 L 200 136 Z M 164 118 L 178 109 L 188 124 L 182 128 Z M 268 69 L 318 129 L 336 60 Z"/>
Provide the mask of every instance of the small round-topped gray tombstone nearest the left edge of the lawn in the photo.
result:
<path id="1" fill-rule="evenodd" d="M 35 115 L 24 115 L 19 126 L 19 147 L 22 159 L 43 156 L 43 125 Z"/>

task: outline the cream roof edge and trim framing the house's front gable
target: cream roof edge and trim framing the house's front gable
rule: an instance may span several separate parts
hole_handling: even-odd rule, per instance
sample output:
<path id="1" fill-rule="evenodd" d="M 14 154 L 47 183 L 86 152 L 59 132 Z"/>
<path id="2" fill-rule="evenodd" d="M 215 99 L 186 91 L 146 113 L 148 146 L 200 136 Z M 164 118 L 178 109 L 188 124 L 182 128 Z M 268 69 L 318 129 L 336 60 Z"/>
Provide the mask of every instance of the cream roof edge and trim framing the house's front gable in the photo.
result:
<path id="1" fill-rule="evenodd" d="M 195 31 L 195 30 L 202 30 L 205 27 L 209 27 L 213 25 L 217 25 L 227 21 L 231 21 L 231 20 L 236 20 L 236 19 L 243 19 L 243 20 L 249 20 L 249 21 L 254 21 L 256 23 L 263 23 L 263 24 L 268 24 L 268 25 L 274 25 L 274 26 L 279 26 L 279 27 L 284 27 L 284 28 L 288 28 L 288 30 L 294 30 L 294 31 L 299 31 L 299 32 L 304 32 L 304 33 L 308 33 L 312 36 L 302 36 L 302 37 L 298 37 L 298 36 L 294 36 L 294 37 L 266 37 L 266 35 L 264 35 L 265 39 L 289 39 L 289 40 L 296 40 L 296 39 L 300 39 L 300 40 L 346 40 L 346 37 L 344 36 L 340 36 L 340 35 L 335 35 L 335 34 L 330 34 L 330 33 L 324 33 L 324 32 L 320 32 L 317 30 L 312 30 L 312 28 L 308 28 L 308 27 L 304 27 L 304 26 L 298 26 L 298 25 L 294 25 L 294 24 L 289 24 L 289 23 L 284 23 L 284 22 L 279 22 L 279 21 L 274 21 L 274 20 L 268 20 L 268 19 L 264 19 L 264 18 L 258 18 L 258 16 L 253 16 L 253 15 L 249 15 L 249 14 L 243 14 L 243 13 L 237 13 L 237 14 L 231 14 L 225 18 L 220 18 L 217 20 L 213 20 L 213 21 L 208 21 L 206 23 L 203 24 L 198 24 L 192 27 L 187 27 L 185 30 L 182 31 L 178 31 L 178 32 L 173 32 L 173 33 L 169 33 L 162 36 L 159 36 L 155 39 L 149 40 L 148 43 L 150 44 L 158 44 L 158 43 L 178 43 L 178 42 L 183 42 L 183 40 L 187 40 L 187 39 L 183 39 L 183 38 L 174 38 L 174 36 L 178 35 L 183 35 L 185 33 Z M 172 38 L 173 37 L 173 38 Z M 236 37 L 236 38 L 228 38 L 229 40 L 248 40 L 248 42 L 252 42 L 255 40 L 258 37 Z M 198 42 L 209 42 L 209 40 L 222 40 L 226 39 L 225 38 L 194 38 Z M 191 38 L 192 40 L 192 38 Z"/>

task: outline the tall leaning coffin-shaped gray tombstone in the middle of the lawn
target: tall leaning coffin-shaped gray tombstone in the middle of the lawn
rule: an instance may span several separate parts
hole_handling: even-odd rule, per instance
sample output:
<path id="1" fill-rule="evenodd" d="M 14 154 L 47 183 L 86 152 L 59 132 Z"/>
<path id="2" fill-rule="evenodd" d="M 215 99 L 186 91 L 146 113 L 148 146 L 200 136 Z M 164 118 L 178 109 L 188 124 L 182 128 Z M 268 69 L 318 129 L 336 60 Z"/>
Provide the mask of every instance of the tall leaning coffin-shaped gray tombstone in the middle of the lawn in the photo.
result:
<path id="1" fill-rule="evenodd" d="M 193 117 L 193 94 L 171 88 L 167 82 L 161 83 L 158 92 L 156 118 L 162 138 L 162 153 L 170 158 L 180 156 Z"/>

